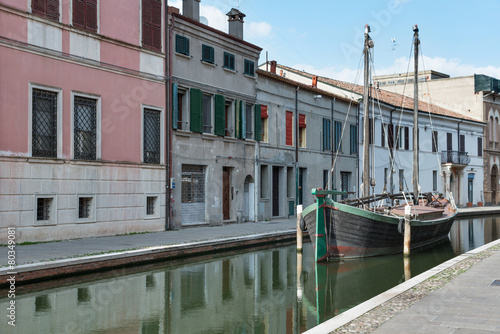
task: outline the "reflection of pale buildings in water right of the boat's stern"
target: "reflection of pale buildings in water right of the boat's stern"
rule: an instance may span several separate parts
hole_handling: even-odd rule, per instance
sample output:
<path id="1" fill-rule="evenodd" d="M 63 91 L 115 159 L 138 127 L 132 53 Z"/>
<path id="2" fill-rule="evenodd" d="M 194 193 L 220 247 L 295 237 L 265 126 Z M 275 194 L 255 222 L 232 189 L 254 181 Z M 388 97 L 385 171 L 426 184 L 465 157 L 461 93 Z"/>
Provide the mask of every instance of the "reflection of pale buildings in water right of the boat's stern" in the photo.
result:
<path id="1" fill-rule="evenodd" d="M 455 252 L 465 253 L 500 237 L 500 218 L 458 219 L 450 231 Z"/>

